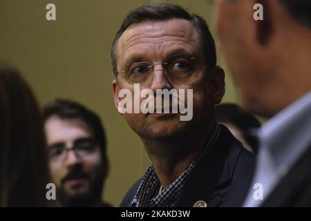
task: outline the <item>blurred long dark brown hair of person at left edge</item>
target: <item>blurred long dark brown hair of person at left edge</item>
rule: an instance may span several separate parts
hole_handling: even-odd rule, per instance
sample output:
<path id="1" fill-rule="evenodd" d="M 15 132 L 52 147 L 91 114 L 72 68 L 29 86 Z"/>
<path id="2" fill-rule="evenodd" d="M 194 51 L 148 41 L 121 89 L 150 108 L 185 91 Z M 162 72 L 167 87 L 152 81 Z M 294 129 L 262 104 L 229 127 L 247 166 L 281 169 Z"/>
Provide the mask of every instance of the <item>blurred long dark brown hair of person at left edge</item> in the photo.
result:
<path id="1" fill-rule="evenodd" d="M 0 61 L 0 207 L 53 206 L 46 139 L 35 95 L 19 70 Z"/>

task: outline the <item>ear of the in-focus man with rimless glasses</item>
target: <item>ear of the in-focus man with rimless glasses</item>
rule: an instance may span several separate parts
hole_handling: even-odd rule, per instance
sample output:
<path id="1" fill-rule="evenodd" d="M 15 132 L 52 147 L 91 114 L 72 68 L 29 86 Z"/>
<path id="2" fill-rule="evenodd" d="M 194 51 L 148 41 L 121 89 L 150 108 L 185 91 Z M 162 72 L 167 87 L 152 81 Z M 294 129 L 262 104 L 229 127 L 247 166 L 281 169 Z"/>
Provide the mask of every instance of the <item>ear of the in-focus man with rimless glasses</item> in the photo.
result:
<path id="1" fill-rule="evenodd" d="M 211 93 L 214 97 L 214 104 L 219 104 L 225 95 L 225 71 L 216 66 L 210 73 Z"/>

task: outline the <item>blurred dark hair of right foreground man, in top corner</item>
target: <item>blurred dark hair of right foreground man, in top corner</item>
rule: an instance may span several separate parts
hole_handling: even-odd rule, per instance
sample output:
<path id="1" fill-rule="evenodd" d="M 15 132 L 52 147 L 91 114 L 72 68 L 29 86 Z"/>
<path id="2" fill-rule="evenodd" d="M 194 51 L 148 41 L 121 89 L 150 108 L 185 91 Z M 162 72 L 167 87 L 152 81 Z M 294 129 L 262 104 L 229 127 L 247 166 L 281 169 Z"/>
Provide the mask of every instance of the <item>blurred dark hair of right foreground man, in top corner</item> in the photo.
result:
<path id="1" fill-rule="evenodd" d="M 311 1 L 310 0 L 279 0 L 290 12 L 290 15 L 299 23 L 311 28 Z"/>

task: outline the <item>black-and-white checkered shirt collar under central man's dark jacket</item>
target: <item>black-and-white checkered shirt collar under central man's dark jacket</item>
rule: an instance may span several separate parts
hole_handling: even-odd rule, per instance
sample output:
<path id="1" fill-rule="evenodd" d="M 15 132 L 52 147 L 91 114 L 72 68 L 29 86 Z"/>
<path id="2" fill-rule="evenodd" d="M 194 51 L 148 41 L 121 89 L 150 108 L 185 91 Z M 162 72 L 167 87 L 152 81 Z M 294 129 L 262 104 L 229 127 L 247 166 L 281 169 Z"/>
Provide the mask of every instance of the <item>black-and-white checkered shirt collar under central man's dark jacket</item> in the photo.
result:
<path id="1" fill-rule="evenodd" d="M 156 171 L 153 168 L 153 165 L 149 166 L 146 173 L 144 173 L 144 177 L 142 177 L 142 181 L 140 182 L 140 186 L 138 187 L 138 191 L 133 199 L 131 205 L 133 207 L 172 207 L 174 206 L 178 196 L 180 195 L 182 188 L 185 184 L 185 180 L 189 173 L 193 171 L 196 164 L 198 164 L 202 155 L 207 153 L 209 148 L 213 146 L 215 141 L 217 140 L 220 134 L 220 126 L 216 126 L 216 130 L 214 131 L 211 139 L 209 140 L 207 146 L 204 151 L 189 165 L 188 169 L 180 175 L 173 183 L 169 184 L 164 191 L 159 192 L 160 190 L 160 180 L 156 175 Z"/>

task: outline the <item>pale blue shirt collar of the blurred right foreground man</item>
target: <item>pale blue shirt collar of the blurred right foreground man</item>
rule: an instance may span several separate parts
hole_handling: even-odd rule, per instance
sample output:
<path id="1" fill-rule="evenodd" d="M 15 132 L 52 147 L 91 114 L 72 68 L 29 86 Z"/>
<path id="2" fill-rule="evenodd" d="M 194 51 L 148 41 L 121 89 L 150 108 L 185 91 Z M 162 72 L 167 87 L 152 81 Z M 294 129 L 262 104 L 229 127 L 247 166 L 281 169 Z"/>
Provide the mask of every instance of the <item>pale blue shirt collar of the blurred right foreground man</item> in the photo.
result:
<path id="1" fill-rule="evenodd" d="M 272 117 L 258 131 L 261 148 L 276 168 L 290 166 L 311 142 L 311 90 Z"/>

